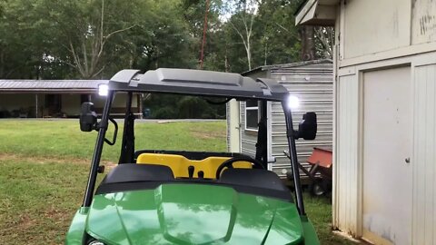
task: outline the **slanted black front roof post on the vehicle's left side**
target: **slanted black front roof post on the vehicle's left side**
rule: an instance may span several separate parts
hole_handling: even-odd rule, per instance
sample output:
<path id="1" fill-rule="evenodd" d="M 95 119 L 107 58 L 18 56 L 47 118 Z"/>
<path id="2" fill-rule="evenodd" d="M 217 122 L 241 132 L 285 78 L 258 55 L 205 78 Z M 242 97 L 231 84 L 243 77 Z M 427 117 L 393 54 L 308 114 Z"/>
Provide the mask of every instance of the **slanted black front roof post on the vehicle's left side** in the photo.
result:
<path id="1" fill-rule="evenodd" d="M 114 101 L 114 91 L 109 91 L 107 94 L 106 103 L 104 104 L 104 110 L 102 120 L 99 122 L 97 142 L 95 142 L 93 161 L 91 162 L 91 169 L 89 171 L 88 183 L 86 185 L 86 191 L 84 192 L 84 204 L 83 207 L 91 206 L 94 196 L 95 181 L 97 179 L 98 166 L 103 152 L 104 136 L 107 131 L 109 114 Z"/>

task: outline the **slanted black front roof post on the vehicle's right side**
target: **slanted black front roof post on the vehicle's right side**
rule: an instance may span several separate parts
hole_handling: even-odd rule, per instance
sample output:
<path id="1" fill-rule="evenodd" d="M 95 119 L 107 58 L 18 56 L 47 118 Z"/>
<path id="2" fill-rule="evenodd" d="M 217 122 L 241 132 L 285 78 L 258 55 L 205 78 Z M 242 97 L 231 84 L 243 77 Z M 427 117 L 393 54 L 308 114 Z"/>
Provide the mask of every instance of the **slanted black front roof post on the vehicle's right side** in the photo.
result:
<path id="1" fill-rule="evenodd" d="M 292 113 L 288 108 L 286 101 L 282 102 L 284 119 L 286 121 L 286 135 L 289 144 L 289 155 L 291 158 L 292 179 L 295 187 L 295 200 L 297 201 L 297 209 L 300 215 L 305 215 L 304 203 L 302 201 L 302 183 L 300 181 L 300 170 L 298 168 L 297 148 L 295 146 L 295 138 L 293 136 Z"/>

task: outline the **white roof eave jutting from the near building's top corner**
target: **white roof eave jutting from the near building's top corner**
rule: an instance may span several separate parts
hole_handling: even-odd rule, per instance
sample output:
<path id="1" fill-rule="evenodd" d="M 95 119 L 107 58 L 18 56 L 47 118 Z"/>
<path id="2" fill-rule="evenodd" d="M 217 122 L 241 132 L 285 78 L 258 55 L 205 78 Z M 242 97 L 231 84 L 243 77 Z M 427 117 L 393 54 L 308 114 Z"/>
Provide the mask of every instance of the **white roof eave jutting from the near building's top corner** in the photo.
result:
<path id="1" fill-rule="evenodd" d="M 308 0 L 295 16 L 295 25 L 333 26 L 340 0 Z"/>

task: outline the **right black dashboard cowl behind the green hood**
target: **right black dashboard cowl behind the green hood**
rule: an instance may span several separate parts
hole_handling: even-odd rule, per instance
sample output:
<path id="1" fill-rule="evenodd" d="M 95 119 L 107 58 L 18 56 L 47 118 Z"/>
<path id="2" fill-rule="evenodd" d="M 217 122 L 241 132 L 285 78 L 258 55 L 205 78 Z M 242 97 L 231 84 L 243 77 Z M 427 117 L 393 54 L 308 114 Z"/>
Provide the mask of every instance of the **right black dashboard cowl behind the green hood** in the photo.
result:
<path id="1" fill-rule="evenodd" d="M 226 169 L 220 177 L 220 182 L 231 185 L 243 185 L 276 191 L 289 191 L 272 171 L 259 169 Z"/>

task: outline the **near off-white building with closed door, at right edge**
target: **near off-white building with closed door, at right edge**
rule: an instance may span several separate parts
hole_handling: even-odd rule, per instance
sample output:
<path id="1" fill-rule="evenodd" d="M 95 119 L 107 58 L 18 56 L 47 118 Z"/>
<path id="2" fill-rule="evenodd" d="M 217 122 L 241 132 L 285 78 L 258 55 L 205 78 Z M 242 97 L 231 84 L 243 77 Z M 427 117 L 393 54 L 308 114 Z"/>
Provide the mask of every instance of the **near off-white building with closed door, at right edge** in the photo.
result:
<path id="1" fill-rule="evenodd" d="M 376 244 L 436 244 L 436 2 L 308 0 L 332 25 L 333 227 Z"/>

